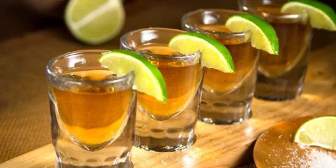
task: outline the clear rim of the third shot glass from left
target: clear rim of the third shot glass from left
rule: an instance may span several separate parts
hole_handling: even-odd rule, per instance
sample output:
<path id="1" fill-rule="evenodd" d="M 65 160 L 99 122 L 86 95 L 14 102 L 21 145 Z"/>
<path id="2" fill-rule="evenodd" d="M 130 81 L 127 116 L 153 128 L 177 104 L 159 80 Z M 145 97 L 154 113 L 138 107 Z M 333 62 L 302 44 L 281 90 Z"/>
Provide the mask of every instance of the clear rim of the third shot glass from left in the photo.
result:
<path id="1" fill-rule="evenodd" d="M 190 28 L 192 31 L 196 31 L 196 32 L 200 32 L 202 34 L 215 34 L 216 36 L 225 36 L 225 37 L 232 37 L 232 38 L 239 38 L 242 37 L 244 38 L 246 36 L 246 34 L 251 34 L 251 30 L 246 30 L 246 31 L 240 31 L 240 32 L 221 32 L 221 31 L 209 31 L 209 30 L 205 30 L 205 29 L 199 29 L 193 25 L 190 25 L 190 23 L 188 22 L 188 17 L 190 17 L 190 15 L 193 15 L 195 13 L 200 13 L 200 12 L 204 12 L 204 11 L 214 11 L 216 12 L 216 10 L 220 10 L 222 12 L 227 12 L 227 13 L 241 13 L 241 14 L 248 14 L 239 10 L 230 10 L 230 9 L 221 9 L 221 8 L 201 8 L 201 9 L 197 9 L 197 10 L 193 10 L 190 11 L 186 14 L 183 15 L 182 17 L 182 24 L 183 25 L 187 25 L 188 28 Z"/>

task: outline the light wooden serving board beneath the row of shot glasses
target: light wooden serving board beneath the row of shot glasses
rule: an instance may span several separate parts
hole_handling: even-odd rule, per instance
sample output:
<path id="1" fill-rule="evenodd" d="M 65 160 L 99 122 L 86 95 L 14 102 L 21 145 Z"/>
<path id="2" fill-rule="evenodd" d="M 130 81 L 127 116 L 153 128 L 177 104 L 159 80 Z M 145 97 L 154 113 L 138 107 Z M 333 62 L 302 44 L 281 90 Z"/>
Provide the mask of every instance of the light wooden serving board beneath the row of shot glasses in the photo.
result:
<path id="1" fill-rule="evenodd" d="M 253 116 L 240 125 L 197 123 L 195 145 L 185 151 L 157 153 L 132 150 L 135 167 L 237 167 L 253 160 L 259 135 L 275 123 L 303 116 L 336 116 L 336 43 L 309 55 L 309 70 L 299 99 L 266 102 L 253 99 Z M 0 165 L 5 167 L 55 167 L 49 144 Z"/>

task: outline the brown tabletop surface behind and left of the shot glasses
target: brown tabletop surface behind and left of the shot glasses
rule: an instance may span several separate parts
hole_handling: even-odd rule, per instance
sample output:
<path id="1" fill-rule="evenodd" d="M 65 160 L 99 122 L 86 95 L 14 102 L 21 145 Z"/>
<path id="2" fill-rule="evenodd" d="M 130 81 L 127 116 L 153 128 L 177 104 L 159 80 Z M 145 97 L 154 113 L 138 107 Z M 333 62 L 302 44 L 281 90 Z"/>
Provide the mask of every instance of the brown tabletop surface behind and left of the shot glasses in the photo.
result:
<path id="1" fill-rule="evenodd" d="M 18 9 L 24 11 L 9 8 L 10 3 L 22 5 L 10 0 L 0 2 L 0 163 L 51 143 L 45 65 L 52 57 L 73 50 L 119 48 L 120 37 L 134 29 L 180 29 L 182 15 L 198 8 L 237 8 L 236 1 L 130 0 L 125 3 L 127 18 L 120 34 L 108 43 L 92 46 L 77 41 L 64 25 L 27 33 L 36 22 L 41 23 L 41 28 L 42 22 L 33 22 L 24 17 L 28 14 L 17 13 Z M 3 4 L 8 4 L 8 10 L 1 10 L 5 8 Z M 15 31 L 26 33 L 13 38 Z M 1 34 L 8 34 L 8 39 L 1 41 Z"/>

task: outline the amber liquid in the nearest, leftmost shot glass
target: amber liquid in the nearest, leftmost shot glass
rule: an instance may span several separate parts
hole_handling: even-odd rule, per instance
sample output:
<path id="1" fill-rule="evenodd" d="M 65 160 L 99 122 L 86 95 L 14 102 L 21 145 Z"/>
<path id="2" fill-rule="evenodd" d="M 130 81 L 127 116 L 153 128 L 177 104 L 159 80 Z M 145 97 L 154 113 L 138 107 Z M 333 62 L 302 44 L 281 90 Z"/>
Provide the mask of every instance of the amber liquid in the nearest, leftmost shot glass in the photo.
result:
<path id="1" fill-rule="evenodd" d="M 64 76 L 85 81 L 104 80 L 109 70 L 72 71 Z M 90 85 L 62 90 L 50 86 L 57 102 L 60 125 L 80 144 L 98 145 L 120 132 L 132 97 L 132 89 L 116 91 L 113 87 Z"/>

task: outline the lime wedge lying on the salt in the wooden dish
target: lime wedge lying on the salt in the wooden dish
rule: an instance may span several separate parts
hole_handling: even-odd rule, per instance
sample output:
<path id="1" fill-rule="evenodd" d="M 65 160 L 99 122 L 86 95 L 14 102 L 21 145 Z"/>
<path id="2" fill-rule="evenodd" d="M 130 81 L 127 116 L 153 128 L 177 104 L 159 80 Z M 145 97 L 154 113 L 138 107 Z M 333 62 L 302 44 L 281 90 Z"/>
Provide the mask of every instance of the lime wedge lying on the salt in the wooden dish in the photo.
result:
<path id="1" fill-rule="evenodd" d="M 297 130 L 294 141 L 307 146 L 336 150 L 336 117 L 314 118 Z"/>

